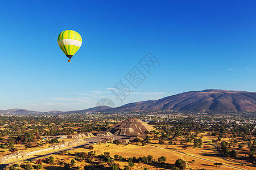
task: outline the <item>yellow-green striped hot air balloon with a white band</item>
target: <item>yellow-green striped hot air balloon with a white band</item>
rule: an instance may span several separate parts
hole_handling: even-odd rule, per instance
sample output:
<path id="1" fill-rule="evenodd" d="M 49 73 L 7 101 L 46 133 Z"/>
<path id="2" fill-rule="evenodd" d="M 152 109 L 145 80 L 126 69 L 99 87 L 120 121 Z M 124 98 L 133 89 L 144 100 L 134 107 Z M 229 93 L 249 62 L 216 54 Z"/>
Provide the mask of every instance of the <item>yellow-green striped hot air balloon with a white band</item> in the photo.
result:
<path id="1" fill-rule="evenodd" d="M 66 30 L 58 36 L 58 44 L 63 53 L 69 58 L 68 62 L 71 62 L 71 57 L 82 45 L 82 37 L 76 31 Z"/>

